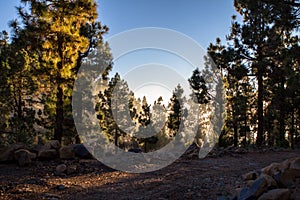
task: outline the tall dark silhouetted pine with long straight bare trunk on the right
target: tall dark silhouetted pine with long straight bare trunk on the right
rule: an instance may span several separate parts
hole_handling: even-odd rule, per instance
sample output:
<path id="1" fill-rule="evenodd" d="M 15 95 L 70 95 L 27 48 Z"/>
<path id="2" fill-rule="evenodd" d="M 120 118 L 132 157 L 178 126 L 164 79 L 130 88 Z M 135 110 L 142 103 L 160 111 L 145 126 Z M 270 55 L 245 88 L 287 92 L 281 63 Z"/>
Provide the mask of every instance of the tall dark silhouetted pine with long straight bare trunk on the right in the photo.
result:
<path id="1" fill-rule="evenodd" d="M 264 85 L 271 70 L 271 60 L 278 54 L 273 49 L 280 46 L 282 40 L 278 38 L 295 27 L 295 5 L 298 5 L 296 1 L 234 1 L 236 10 L 243 17 L 243 24 L 233 22 L 228 36 L 231 41 L 228 52 L 232 53 L 233 62 L 243 63 L 248 76 L 256 78 L 258 146 L 264 142 Z"/>

